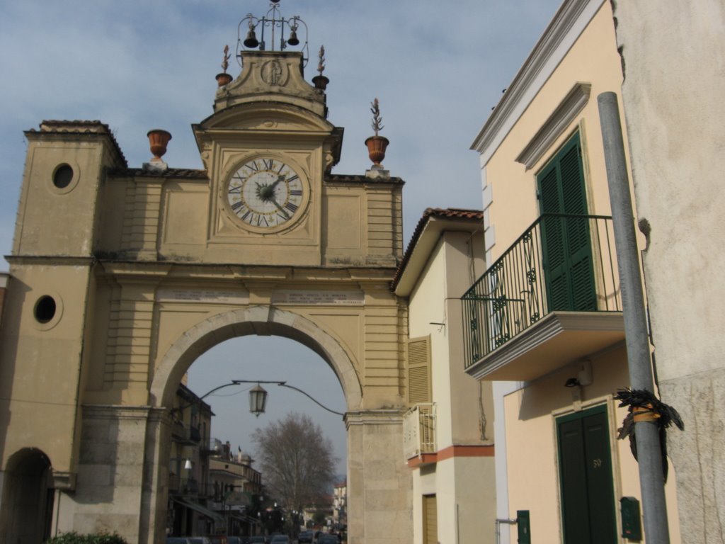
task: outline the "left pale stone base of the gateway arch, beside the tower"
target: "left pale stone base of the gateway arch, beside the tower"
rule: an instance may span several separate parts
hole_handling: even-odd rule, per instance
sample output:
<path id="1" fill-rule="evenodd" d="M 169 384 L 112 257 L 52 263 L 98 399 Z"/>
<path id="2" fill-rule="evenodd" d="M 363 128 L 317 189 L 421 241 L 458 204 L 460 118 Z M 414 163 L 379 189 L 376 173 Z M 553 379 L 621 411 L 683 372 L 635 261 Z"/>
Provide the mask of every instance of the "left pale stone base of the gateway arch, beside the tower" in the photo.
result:
<path id="1" fill-rule="evenodd" d="M 164 542 L 165 508 L 155 499 L 166 493 L 168 461 L 158 454 L 164 440 L 168 453 L 167 419 L 163 408 L 83 407 L 75 489 L 57 490 L 54 534 L 117 532 L 128 543 Z"/>

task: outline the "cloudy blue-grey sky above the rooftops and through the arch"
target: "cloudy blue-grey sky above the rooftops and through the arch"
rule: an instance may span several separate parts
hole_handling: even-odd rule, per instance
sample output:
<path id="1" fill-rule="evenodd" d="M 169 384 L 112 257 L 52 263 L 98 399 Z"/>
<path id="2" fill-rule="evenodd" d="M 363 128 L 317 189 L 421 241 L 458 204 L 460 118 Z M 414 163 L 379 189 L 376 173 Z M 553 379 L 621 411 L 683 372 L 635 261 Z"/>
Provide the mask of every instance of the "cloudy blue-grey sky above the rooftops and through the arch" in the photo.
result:
<path id="1" fill-rule="evenodd" d="M 334 173 L 360 174 L 370 167 L 363 142 L 372 134 L 370 102 L 380 100 L 382 134 L 391 142 L 384 165 L 406 181 L 406 244 L 426 207 L 480 207 L 479 161 L 471 142 L 559 4 L 281 0 L 282 14 L 299 15 L 309 28 L 308 81 L 318 49 L 326 49 L 329 120 L 345 129 Z M 263 15 L 268 5 L 265 0 L 2 2 L 2 255 L 12 247 L 25 165 L 23 131 L 45 119 L 101 120 L 112 128 L 129 165 L 140 167 L 151 157 L 146 132 L 164 128 L 173 134 L 164 157 L 170 167 L 202 168 L 191 123 L 212 113 L 214 76 L 221 71 L 225 44 L 235 49 L 239 21 L 249 12 Z M 236 77 L 239 66 L 233 63 L 229 72 Z M 268 350 L 279 360 L 274 368 L 249 362 L 249 355 Z M 199 394 L 228 379 L 286 379 L 330 408 L 344 409 L 326 364 L 280 339 L 225 342 L 194 363 L 190 376 Z M 246 408 L 223 408 L 224 400 L 246 406 L 245 391 L 229 388 L 220 395 L 231 397 L 210 397 L 218 414 L 212 432 L 235 449 L 251 449 L 248 432 L 265 420 L 288 410 L 318 417 L 302 395 L 268 389 L 270 411 L 257 420 L 239 416 Z M 338 416 L 319 417 L 344 472 L 344 426 Z"/>

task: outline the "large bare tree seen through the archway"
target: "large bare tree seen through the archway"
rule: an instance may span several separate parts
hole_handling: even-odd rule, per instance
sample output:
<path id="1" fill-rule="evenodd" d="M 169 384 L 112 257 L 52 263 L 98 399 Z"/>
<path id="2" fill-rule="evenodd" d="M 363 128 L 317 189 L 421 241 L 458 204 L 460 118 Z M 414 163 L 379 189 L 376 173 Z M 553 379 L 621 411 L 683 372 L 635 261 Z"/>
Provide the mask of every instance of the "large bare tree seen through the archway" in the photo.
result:
<path id="1" fill-rule="evenodd" d="M 288 413 L 257 428 L 252 440 L 265 486 L 287 508 L 313 506 L 330 493 L 337 459 L 331 440 L 309 416 Z"/>

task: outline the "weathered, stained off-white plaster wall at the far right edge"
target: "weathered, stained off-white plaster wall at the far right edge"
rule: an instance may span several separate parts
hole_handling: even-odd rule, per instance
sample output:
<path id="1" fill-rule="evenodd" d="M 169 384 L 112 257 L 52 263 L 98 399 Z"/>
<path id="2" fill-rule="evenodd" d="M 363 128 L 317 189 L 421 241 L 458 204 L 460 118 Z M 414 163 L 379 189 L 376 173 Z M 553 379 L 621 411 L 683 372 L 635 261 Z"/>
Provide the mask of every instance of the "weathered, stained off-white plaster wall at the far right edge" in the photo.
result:
<path id="1" fill-rule="evenodd" d="M 682 535 L 721 544 L 725 511 L 725 78 L 720 0 L 617 2 L 617 40 L 660 393 L 682 415 L 668 433 Z"/>

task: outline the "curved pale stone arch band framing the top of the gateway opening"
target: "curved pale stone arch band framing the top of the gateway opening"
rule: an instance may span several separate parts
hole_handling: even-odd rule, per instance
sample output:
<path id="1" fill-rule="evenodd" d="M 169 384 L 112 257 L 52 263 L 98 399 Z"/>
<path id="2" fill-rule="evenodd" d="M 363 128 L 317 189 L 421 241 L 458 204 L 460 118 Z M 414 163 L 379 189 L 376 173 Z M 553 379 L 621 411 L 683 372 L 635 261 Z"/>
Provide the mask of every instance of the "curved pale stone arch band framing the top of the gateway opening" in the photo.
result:
<path id="1" fill-rule="evenodd" d="M 225 340 L 249 334 L 286 337 L 315 351 L 339 379 L 347 411 L 360 409 L 363 390 L 346 350 L 310 319 L 273 306 L 252 306 L 220 313 L 184 332 L 167 350 L 154 372 L 151 404 L 155 407 L 171 405 L 184 372 L 199 355 Z"/>

